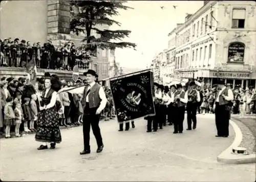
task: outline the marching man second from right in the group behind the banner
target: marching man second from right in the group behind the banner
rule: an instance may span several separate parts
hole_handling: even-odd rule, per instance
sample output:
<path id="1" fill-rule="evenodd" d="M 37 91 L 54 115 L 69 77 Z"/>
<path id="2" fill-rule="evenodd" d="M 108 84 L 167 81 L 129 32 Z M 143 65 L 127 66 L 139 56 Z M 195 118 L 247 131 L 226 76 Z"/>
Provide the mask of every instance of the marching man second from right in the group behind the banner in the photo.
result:
<path id="1" fill-rule="evenodd" d="M 185 105 L 187 103 L 187 92 L 183 90 L 181 84 L 177 84 L 177 91 L 174 95 L 174 102 L 176 103 L 176 109 L 174 113 L 174 133 L 182 133 L 183 121 L 185 117 Z"/>

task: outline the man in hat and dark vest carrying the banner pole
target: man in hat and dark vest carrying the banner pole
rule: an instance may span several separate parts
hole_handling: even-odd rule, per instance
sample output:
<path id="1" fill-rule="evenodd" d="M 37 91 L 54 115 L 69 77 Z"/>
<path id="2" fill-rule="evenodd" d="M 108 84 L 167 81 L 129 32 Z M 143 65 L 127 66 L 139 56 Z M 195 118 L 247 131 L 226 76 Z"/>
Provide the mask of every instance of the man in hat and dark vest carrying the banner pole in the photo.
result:
<path id="1" fill-rule="evenodd" d="M 103 142 L 99 128 L 100 112 L 106 105 L 106 96 L 103 88 L 95 82 L 97 74 L 94 70 L 88 70 L 84 75 L 87 77 L 87 85 L 83 91 L 83 151 L 81 155 L 91 152 L 90 149 L 90 128 L 92 126 L 98 149 L 97 153 L 103 150 Z"/>

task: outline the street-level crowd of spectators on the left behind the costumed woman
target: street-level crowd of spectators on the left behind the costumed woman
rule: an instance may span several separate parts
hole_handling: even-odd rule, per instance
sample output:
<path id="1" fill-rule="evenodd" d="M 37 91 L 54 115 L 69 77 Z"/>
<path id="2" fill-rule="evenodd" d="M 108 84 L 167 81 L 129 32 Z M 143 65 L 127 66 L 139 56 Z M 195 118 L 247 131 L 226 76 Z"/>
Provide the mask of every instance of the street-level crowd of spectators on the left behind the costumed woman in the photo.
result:
<path id="1" fill-rule="evenodd" d="M 45 77 L 50 74 L 46 73 Z M 29 79 L 0 78 L 0 134 L 5 138 L 20 137 L 36 131 L 37 112 L 39 111 L 38 97 L 44 90 L 45 77 L 37 78 L 32 86 Z M 51 77 L 54 77 L 52 75 Z M 61 87 L 80 86 L 86 80 L 76 82 L 59 80 Z M 101 119 L 109 121 L 115 118 L 115 109 L 110 88 L 103 86 L 108 103 L 101 113 Z M 36 93 L 36 94 L 32 94 Z M 83 107 L 82 95 L 63 92 L 58 95 L 61 107 L 58 110 L 60 126 L 80 126 L 82 124 Z M 13 133 L 14 132 L 14 133 Z"/>

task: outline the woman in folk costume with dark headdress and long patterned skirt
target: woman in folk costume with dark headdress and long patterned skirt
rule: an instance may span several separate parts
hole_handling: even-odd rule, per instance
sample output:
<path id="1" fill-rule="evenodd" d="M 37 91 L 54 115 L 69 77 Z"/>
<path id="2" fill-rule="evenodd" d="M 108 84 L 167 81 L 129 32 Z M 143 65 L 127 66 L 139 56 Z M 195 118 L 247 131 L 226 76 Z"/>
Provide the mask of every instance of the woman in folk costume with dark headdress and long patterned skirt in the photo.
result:
<path id="1" fill-rule="evenodd" d="M 60 102 L 57 100 L 57 92 L 61 87 L 61 82 L 57 77 L 45 78 L 45 90 L 42 92 L 42 104 L 40 105 L 37 131 L 35 140 L 43 142 L 37 149 L 47 149 L 47 142 L 51 143 L 51 149 L 55 148 L 56 143 L 61 142 L 59 130 L 58 109 Z"/>

